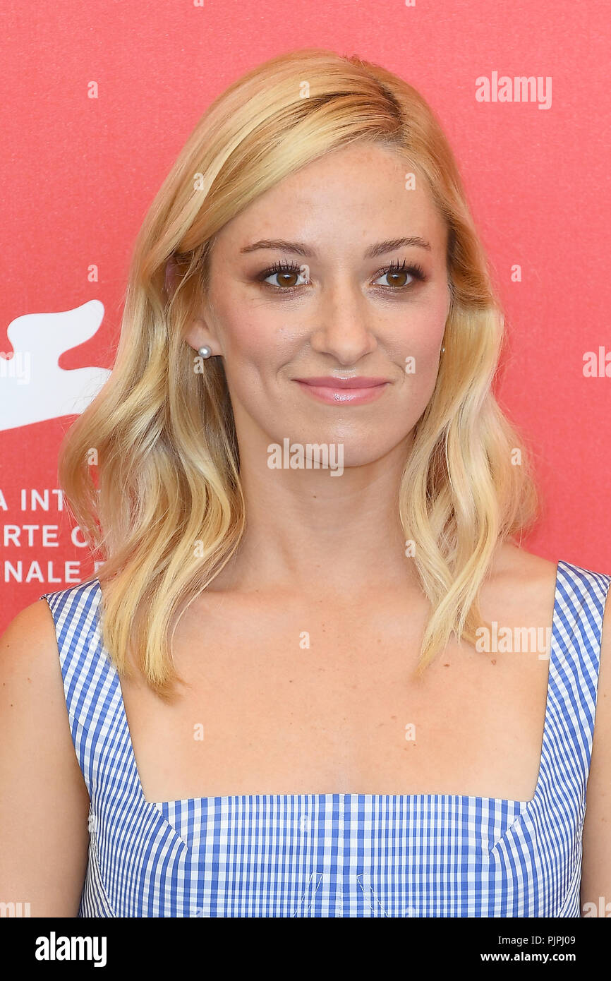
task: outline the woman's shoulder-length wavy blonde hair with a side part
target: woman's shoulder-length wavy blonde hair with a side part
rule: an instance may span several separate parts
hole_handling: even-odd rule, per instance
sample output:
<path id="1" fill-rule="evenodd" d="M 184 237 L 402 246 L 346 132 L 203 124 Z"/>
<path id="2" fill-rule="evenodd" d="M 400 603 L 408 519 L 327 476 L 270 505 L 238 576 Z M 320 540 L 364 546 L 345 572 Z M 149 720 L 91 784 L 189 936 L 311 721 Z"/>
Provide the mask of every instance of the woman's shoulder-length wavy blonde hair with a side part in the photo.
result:
<path id="1" fill-rule="evenodd" d="M 525 447 L 491 391 L 503 316 L 433 111 L 357 57 L 305 49 L 274 58 L 212 103 L 161 186 L 133 249 L 113 371 L 60 449 L 60 483 L 102 563 L 84 582 L 97 576 L 103 587 L 103 643 L 120 675 L 133 660 L 160 697 L 176 692 L 178 619 L 229 561 L 245 521 L 222 359 L 196 373 L 184 339 L 215 233 L 286 175 L 356 140 L 402 154 L 448 229 L 445 353 L 397 502 L 432 607 L 418 675 L 452 632 L 475 644 L 495 546 L 537 513 Z"/>

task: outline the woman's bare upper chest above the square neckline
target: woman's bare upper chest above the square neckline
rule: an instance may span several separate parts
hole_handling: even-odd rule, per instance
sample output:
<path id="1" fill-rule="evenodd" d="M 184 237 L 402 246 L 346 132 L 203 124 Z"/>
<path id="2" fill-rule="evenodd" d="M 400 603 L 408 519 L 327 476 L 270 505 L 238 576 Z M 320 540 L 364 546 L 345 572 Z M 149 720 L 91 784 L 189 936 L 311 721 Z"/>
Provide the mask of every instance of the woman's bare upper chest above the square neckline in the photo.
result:
<path id="1" fill-rule="evenodd" d="M 546 659 L 452 642 L 414 675 L 427 610 L 208 602 L 178 624 L 172 704 L 122 682 L 147 800 L 461 794 L 530 800 Z"/>

